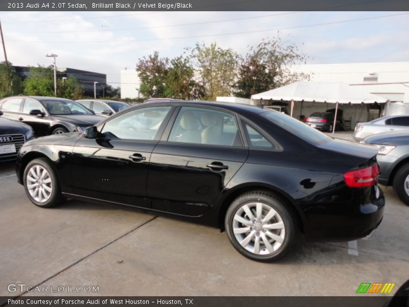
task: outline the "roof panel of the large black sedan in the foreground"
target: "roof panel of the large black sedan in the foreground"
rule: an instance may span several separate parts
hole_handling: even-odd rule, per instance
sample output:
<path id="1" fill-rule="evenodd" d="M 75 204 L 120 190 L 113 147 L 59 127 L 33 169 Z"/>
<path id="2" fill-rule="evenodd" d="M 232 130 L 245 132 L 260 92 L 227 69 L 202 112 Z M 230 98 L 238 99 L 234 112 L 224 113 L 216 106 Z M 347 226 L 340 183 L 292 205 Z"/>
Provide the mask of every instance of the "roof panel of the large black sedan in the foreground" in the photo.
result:
<path id="1" fill-rule="evenodd" d="M 146 106 L 154 106 L 154 105 L 200 106 L 202 105 L 202 106 L 214 106 L 214 107 L 229 109 L 230 111 L 237 112 L 237 113 L 251 112 L 255 114 L 270 111 L 268 108 L 263 108 L 260 105 L 249 105 L 249 104 L 240 104 L 240 103 L 233 103 L 233 102 L 203 101 L 203 100 L 200 100 L 200 101 L 194 101 L 194 100 L 192 101 L 189 101 L 189 100 L 157 101 L 157 102 L 152 102 L 152 103 L 139 104 L 133 107 L 141 107 L 142 105 L 146 105 Z"/>

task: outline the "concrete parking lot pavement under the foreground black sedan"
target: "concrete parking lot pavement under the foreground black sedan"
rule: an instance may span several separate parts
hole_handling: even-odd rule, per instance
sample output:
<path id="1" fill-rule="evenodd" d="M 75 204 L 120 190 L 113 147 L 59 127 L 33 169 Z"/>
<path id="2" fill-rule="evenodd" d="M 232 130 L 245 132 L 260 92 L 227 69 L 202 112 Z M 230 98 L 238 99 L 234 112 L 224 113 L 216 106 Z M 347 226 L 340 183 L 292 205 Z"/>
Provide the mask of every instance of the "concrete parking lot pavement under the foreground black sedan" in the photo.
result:
<path id="1" fill-rule="evenodd" d="M 49 295 L 352 296 L 361 282 L 394 282 L 393 295 L 409 278 L 409 207 L 391 187 L 381 186 L 387 206 L 369 238 L 302 243 L 262 264 L 214 228 L 73 200 L 38 208 L 14 163 L 0 164 L 0 186 L 0 296 L 27 295 L 8 291 L 16 283 L 99 287 Z"/>

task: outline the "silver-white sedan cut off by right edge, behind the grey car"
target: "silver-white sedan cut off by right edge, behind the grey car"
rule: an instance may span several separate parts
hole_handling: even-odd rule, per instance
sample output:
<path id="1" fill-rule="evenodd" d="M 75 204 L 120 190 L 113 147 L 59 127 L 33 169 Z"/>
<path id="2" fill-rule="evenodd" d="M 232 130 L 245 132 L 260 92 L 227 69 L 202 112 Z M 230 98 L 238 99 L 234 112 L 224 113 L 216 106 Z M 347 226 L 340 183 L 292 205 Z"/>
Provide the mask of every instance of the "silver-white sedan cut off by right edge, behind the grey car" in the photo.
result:
<path id="1" fill-rule="evenodd" d="M 399 130 L 409 130 L 409 115 L 386 116 L 368 123 L 357 123 L 354 140 L 359 142 L 370 135 Z"/>

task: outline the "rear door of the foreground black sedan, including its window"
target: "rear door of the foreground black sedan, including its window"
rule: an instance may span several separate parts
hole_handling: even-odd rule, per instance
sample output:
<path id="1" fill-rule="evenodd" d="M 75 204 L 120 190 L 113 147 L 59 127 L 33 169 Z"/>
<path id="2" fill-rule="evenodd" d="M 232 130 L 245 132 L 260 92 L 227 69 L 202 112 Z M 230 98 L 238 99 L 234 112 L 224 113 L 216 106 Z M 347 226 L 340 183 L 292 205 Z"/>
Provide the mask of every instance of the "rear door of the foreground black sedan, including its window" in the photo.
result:
<path id="1" fill-rule="evenodd" d="M 247 156 L 235 114 L 180 107 L 152 152 L 147 185 L 152 209 L 202 215 Z"/>

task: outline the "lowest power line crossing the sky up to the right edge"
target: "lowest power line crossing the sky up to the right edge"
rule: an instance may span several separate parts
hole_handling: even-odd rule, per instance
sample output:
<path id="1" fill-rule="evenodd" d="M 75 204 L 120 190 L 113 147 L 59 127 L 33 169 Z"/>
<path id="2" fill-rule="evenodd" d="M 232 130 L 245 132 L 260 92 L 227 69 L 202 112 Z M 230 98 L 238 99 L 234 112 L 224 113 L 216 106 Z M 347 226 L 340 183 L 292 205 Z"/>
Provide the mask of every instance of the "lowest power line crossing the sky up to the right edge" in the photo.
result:
<path id="1" fill-rule="evenodd" d="M 400 13 L 400 14 L 391 14 L 391 15 L 375 16 L 375 17 L 358 18 L 358 19 L 332 21 L 332 22 L 330 22 L 330 23 L 321 23 L 321 24 L 312 24 L 312 25 L 303 25 L 303 26 L 293 26 L 293 27 L 284 27 L 284 28 L 267 29 L 267 30 L 245 31 L 245 32 L 219 33 L 219 34 L 209 34 L 209 35 L 192 35 L 192 36 L 180 36 L 180 37 L 147 38 L 147 39 L 127 39 L 127 40 L 100 40 L 100 41 L 9 40 L 9 42 L 53 42 L 53 43 L 85 43 L 85 42 L 86 42 L 86 43 L 107 43 L 107 42 L 138 42 L 138 41 L 186 39 L 186 38 L 200 38 L 200 37 L 228 36 L 228 35 L 238 35 L 238 34 L 251 34 L 251 33 L 261 33 L 261 32 L 271 32 L 271 31 L 280 31 L 280 30 L 300 29 L 300 28 L 317 27 L 317 26 L 328 26 L 328 25 L 352 23 L 352 22 L 354 22 L 354 21 L 361 21 L 361 20 L 371 20 L 371 19 L 379 19 L 379 18 L 387 18 L 387 17 L 401 16 L 401 15 L 407 15 L 407 14 L 409 14 L 409 12 Z"/>

